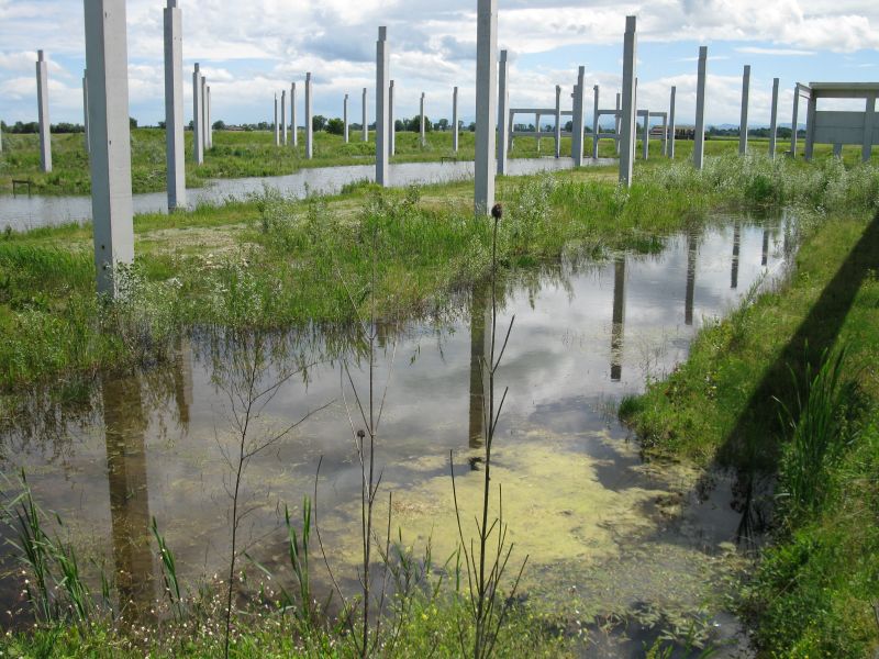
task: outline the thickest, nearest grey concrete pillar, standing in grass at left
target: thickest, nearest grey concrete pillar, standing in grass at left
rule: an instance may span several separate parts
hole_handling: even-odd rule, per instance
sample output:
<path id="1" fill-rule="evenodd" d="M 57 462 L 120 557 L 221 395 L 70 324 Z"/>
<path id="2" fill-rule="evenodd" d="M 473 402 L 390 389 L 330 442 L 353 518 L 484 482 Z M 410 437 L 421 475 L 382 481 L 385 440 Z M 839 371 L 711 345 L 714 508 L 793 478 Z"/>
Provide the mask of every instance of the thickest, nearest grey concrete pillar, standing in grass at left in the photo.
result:
<path id="1" fill-rule="evenodd" d="M 115 297 L 116 266 L 134 261 L 125 0 L 84 4 L 94 265 L 98 292 Z"/>

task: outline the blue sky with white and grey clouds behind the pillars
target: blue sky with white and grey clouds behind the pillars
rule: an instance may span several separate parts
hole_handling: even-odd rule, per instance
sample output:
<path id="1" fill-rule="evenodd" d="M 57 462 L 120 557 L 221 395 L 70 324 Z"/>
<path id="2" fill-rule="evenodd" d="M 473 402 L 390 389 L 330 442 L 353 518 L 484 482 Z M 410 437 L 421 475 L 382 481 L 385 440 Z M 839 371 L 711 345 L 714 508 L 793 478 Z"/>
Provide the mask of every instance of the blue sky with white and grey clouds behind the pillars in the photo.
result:
<path id="1" fill-rule="evenodd" d="M 141 125 L 164 120 L 165 0 L 127 1 L 130 114 Z M 271 121 L 274 96 L 314 81 L 314 112 L 353 121 L 360 94 L 375 98 L 378 26 L 388 26 L 394 114 L 474 116 L 476 0 L 179 0 L 183 14 L 183 89 L 191 116 L 196 62 L 209 79 L 212 118 Z M 637 16 L 638 108 L 666 111 L 677 86 L 678 124 L 693 122 L 699 46 L 708 46 L 706 123 L 738 125 L 743 66 L 752 66 L 750 125 L 768 124 L 772 78 L 780 79 L 779 123 L 790 124 L 795 82 L 879 81 L 877 0 L 498 0 L 499 48 L 510 59 L 514 108 L 555 105 L 586 66 L 587 121 L 592 87 L 613 107 L 621 87 L 625 16 Z M 79 0 L 0 0 L 0 119 L 36 120 L 36 51 L 45 51 L 53 123 L 82 123 L 85 27 Z M 834 103 L 831 101 L 831 103 Z M 847 104 L 846 104 L 847 103 Z M 838 109 L 863 109 L 836 101 Z M 569 109 L 566 108 L 566 109 Z M 299 98 L 299 118 L 303 115 Z M 525 123 L 532 120 L 522 118 Z M 519 121 L 519 120 L 518 120 Z M 608 120 L 609 122 L 610 120 Z M 301 125 L 301 119 L 300 119 Z"/>

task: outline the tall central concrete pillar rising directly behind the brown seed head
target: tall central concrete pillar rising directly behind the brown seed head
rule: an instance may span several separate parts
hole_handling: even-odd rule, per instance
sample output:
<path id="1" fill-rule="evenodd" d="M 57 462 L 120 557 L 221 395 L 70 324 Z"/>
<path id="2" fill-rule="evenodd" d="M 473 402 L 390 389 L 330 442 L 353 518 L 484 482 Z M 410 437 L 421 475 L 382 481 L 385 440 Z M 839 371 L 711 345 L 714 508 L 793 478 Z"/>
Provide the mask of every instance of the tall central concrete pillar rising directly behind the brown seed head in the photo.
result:
<path id="1" fill-rule="evenodd" d="M 498 100 L 498 0 L 478 0 L 476 18 L 476 161 L 474 210 L 494 205 L 494 154 Z"/>

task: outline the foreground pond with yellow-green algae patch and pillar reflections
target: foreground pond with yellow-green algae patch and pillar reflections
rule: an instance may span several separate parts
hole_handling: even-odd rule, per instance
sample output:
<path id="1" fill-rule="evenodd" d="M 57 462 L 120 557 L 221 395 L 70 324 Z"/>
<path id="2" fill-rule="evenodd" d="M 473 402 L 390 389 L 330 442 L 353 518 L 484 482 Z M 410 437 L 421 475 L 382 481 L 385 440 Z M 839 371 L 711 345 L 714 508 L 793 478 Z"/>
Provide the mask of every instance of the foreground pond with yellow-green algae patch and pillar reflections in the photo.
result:
<path id="1" fill-rule="evenodd" d="M 566 257 L 502 287 L 499 325 L 513 315 L 515 323 L 498 373 L 499 391 L 509 387 L 509 395 L 492 481 L 503 487 L 513 560 L 530 557 L 522 592 L 553 603 L 572 625 L 590 626 L 602 639 L 590 646 L 596 652 L 642 648 L 620 634 L 622 622 L 654 635 L 687 625 L 714 638 L 737 634 L 722 585 L 743 565 L 731 482 L 715 474 L 705 487 L 686 466 L 643 462 L 614 405 L 683 360 L 701 325 L 752 287 L 771 286 L 789 258 L 789 231 L 787 220 L 727 217 L 667 238 L 658 254 L 598 264 Z M 375 380 L 379 391 L 388 382 L 376 447 L 383 474 L 377 516 L 387 524 L 392 491 L 394 535 L 399 527 L 416 550 L 430 538 L 441 562 L 458 539 L 449 460 L 465 521 L 481 484 L 489 289 L 477 286 L 453 306 L 434 322 L 379 326 Z M 44 507 L 60 515 L 85 556 L 107 560 L 133 600 L 158 594 L 152 516 L 183 582 L 214 579 L 230 534 L 224 456 L 236 450 L 245 375 L 256 372 L 256 390 L 270 393 L 259 401 L 248 440 L 270 439 L 320 411 L 249 463 L 241 526 L 247 551 L 289 579 L 283 506 L 298 518 L 322 460 L 321 533 L 337 576 L 352 583 L 360 471 L 349 414 L 355 427 L 363 422 L 345 365 L 360 395 L 368 370 L 363 345 L 355 345 L 349 332 L 245 343 L 197 334 L 178 346 L 171 367 L 98 378 L 78 407 L 40 395 L 23 402 L 4 423 L 3 470 L 26 469 Z M 471 523 L 465 530 L 475 533 Z M 16 587 L 4 583 L 11 607 Z"/>

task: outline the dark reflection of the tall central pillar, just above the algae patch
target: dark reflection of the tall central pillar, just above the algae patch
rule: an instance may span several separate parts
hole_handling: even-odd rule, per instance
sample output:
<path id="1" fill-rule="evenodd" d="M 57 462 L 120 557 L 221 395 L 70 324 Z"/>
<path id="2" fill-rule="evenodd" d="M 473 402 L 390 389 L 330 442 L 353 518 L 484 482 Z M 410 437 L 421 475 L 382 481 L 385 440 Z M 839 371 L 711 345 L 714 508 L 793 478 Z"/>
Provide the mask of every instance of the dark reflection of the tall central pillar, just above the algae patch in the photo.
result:
<path id="1" fill-rule="evenodd" d="M 470 448 L 480 448 L 486 438 L 486 400 L 491 359 L 491 284 L 474 284 L 470 297 Z"/>

